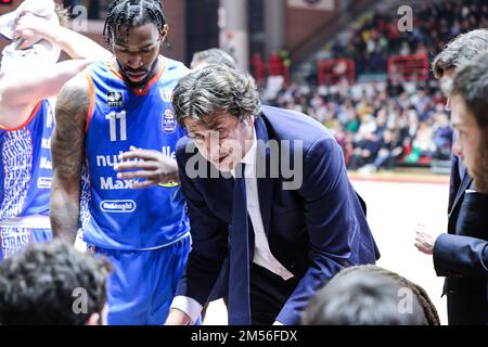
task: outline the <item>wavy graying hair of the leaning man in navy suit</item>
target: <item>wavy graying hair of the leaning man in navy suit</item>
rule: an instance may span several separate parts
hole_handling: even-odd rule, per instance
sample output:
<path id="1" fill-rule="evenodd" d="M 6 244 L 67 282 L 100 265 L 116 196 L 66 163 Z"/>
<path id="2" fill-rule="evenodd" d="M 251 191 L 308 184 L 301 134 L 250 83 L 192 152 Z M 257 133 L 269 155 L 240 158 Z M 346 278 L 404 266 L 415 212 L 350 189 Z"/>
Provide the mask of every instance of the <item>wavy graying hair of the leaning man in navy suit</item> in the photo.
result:
<path id="1" fill-rule="evenodd" d="M 208 65 L 183 77 L 175 88 L 172 107 L 177 120 L 203 120 L 207 116 L 229 112 L 245 118 L 257 116 L 259 93 L 247 73 L 223 65 Z"/>

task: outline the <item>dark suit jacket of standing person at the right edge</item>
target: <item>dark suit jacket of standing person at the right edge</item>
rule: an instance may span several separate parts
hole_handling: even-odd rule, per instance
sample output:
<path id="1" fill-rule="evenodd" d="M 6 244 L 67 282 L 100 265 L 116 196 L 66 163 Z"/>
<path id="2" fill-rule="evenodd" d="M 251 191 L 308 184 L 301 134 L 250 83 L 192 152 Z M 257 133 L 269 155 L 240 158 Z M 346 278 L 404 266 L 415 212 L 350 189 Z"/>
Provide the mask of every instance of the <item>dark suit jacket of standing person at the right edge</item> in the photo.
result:
<path id="1" fill-rule="evenodd" d="M 465 193 L 473 178 L 453 156 L 448 233 L 434 244 L 434 268 L 446 277 L 449 324 L 488 323 L 488 197 Z"/>

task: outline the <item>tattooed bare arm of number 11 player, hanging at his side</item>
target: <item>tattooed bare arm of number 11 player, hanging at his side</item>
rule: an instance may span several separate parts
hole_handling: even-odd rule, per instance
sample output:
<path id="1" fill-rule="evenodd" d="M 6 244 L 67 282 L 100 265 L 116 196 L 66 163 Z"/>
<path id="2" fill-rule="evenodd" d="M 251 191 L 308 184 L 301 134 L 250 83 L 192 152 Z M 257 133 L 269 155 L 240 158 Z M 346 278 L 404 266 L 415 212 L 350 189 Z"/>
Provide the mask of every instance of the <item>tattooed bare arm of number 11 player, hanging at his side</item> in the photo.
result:
<path id="1" fill-rule="evenodd" d="M 88 81 L 78 75 L 57 95 L 51 151 L 51 228 L 54 237 L 74 243 L 79 220 L 85 126 L 90 107 Z"/>

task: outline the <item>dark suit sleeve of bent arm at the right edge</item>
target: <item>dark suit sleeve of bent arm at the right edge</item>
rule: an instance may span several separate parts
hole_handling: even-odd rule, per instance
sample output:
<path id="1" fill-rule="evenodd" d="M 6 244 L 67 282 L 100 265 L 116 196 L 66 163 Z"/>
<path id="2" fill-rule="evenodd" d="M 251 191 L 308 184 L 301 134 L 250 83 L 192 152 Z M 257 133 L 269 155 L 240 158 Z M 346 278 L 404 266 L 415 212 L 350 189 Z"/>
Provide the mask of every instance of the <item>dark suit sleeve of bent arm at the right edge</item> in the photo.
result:
<path id="1" fill-rule="evenodd" d="M 486 277 L 488 242 L 480 239 L 441 234 L 434 244 L 434 268 L 440 277 Z"/>

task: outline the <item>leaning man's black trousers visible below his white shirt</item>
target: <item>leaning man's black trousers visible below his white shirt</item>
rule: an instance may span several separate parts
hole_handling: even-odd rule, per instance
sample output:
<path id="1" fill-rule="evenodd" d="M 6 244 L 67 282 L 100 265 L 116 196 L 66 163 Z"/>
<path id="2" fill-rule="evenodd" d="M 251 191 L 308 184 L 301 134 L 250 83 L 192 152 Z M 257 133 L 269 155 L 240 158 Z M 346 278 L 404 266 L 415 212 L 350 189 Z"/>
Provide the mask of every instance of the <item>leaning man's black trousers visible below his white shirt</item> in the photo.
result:
<path id="1" fill-rule="evenodd" d="M 253 264 L 251 268 L 251 320 L 253 325 L 272 325 L 298 283 Z"/>

